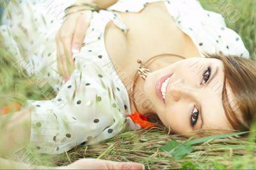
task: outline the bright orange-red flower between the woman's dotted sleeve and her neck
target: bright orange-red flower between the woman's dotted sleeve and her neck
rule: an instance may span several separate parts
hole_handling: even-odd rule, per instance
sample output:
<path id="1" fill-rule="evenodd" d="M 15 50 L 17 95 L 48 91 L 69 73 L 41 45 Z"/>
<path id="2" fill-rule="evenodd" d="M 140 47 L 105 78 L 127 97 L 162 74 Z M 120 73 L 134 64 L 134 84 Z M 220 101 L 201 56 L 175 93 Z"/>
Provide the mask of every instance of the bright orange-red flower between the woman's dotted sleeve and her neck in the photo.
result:
<path id="1" fill-rule="evenodd" d="M 143 116 L 139 112 L 134 112 L 132 114 L 129 114 L 128 116 L 132 119 L 134 123 L 138 123 L 141 126 L 141 128 L 154 127 L 154 123 L 150 123 L 147 117 Z"/>

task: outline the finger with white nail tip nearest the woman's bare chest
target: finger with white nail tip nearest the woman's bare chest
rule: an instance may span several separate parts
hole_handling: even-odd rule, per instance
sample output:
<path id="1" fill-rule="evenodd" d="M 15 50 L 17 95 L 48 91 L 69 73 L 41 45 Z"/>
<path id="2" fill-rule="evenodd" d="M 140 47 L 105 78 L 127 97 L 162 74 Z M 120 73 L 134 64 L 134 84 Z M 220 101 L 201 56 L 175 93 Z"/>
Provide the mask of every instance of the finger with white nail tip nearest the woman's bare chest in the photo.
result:
<path id="1" fill-rule="evenodd" d="M 81 50 L 82 43 L 86 34 L 86 30 L 90 26 L 90 20 L 92 19 L 92 12 L 86 11 L 78 14 L 76 31 L 72 40 L 72 52 L 76 54 Z"/>

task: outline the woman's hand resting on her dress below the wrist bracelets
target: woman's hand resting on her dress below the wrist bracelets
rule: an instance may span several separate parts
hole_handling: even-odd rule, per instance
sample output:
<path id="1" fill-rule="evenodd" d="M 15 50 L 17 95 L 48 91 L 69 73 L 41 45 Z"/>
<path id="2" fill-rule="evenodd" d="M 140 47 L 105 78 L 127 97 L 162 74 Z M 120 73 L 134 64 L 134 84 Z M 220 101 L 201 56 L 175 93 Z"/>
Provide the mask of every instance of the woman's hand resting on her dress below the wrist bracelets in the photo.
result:
<path id="1" fill-rule="evenodd" d="M 70 8 L 68 13 L 84 8 L 86 7 L 77 6 Z M 91 19 L 92 11 L 90 10 L 72 13 L 67 16 L 67 19 L 63 22 L 56 35 L 58 72 L 65 81 L 68 81 L 74 70 L 72 56 L 80 51 Z"/>

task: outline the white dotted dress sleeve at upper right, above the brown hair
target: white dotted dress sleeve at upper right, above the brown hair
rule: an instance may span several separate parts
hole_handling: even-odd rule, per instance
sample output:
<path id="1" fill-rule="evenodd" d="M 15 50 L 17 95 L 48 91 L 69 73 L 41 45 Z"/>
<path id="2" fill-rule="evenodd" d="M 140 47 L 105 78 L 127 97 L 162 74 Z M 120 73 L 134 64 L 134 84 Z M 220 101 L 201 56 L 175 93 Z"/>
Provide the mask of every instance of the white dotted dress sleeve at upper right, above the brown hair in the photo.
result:
<path id="1" fill-rule="evenodd" d="M 177 26 L 200 52 L 249 58 L 241 36 L 226 26 L 220 13 L 205 10 L 196 0 L 166 0 L 165 4 Z"/>

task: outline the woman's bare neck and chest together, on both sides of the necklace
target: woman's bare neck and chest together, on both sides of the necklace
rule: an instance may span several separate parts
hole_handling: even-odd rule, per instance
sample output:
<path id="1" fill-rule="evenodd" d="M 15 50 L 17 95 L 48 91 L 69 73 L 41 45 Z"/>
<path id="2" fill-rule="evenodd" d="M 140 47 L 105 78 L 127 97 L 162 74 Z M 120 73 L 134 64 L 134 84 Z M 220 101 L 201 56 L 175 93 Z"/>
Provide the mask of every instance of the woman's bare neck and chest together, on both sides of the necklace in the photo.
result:
<path id="1" fill-rule="evenodd" d="M 154 112 L 154 104 L 149 102 L 144 93 L 145 81 L 140 77 L 133 90 L 134 98 L 131 98 L 131 86 L 139 66 L 137 60 L 141 59 L 145 62 L 153 56 L 166 53 L 189 58 L 199 56 L 198 51 L 191 38 L 177 27 L 163 2 L 148 4 L 140 13 L 120 13 L 120 15 L 124 24 L 129 27 L 129 31 L 124 35 L 115 24 L 109 22 L 105 32 L 106 50 L 129 93 L 131 111 L 136 111 L 132 102 L 134 100 L 141 114 Z M 148 65 L 152 71 L 155 71 L 179 60 L 180 58 L 166 56 Z"/>

